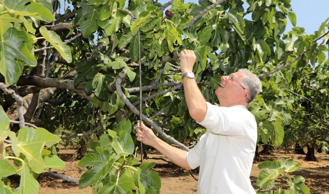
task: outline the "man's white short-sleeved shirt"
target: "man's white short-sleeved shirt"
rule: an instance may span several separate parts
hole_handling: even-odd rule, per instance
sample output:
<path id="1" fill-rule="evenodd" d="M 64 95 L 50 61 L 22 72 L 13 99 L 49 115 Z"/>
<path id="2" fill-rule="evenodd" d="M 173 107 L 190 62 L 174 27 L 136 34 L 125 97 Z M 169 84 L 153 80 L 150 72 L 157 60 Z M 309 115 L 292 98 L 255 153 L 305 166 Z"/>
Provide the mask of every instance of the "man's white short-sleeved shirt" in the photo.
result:
<path id="1" fill-rule="evenodd" d="M 200 125 L 208 131 L 187 152 L 192 169 L 200 166 L 198 194 L 256 194 L 250 171 L 257 141 L 255 117 L 243 105 L 218 107 L 207 102 Z"/>

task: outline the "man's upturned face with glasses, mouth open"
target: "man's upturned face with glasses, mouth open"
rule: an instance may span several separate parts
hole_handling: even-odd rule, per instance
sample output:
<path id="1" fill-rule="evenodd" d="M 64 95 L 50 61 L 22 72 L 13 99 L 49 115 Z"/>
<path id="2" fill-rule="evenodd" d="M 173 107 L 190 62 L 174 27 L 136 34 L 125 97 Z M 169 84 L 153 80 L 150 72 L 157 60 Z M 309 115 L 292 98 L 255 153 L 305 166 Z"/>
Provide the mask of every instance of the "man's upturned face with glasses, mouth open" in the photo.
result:
<path id="1" fill-rule="evenodd" d="M 221 77 L 221 85 L 215 90 L 215 94 L 219 101 L 232 101 L 234 98 L 241 96 L 245 89 L 240 85 L 240 78 L 243 77 L 242 72 L 235 72 L 230 75 Z"/>

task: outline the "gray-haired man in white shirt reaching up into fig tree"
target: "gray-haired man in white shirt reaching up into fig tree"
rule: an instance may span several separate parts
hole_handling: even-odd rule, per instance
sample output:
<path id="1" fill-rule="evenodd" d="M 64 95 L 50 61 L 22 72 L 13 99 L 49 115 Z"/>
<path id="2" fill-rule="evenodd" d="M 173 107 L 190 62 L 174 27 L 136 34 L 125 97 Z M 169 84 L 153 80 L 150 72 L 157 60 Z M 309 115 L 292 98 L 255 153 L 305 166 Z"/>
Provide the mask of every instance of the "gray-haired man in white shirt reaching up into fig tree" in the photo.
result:
<path id="1" fill-rule="evenodd" d="M 196 56 L 180 53 L 184 93 L 190 116 L 208 131 L 189 152 L 173 147 L 156 137 L 153 131 L 137 124 L 137 140 L 153 146 L 169 160 L 185 168 L 200 166 L 198 194 L 255 194 L 250 183 L 257 124 L 246 109 L 259 94 L 262 84 L 246 69 L 222 76 L 215 90 L 220 107 L 206 102 L 193 77 Z"/>

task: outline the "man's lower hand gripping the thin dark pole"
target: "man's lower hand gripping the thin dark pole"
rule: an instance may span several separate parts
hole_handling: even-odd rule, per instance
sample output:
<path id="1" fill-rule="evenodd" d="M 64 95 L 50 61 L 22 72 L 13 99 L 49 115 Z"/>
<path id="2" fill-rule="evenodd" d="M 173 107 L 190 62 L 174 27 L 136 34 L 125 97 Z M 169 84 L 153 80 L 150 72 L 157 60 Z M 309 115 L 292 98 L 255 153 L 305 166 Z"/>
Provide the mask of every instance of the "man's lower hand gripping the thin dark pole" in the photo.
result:
<path id="1" fill-rule="evenodd" d="M 140 130 L 140 123 L 136 125 L 137 140 L 142 141 L 146 145 L 153 146 L 158 137 L 153 133 L 152 129 L 146 127 L 144 123 L 141 124 L 142 131 Z"/>

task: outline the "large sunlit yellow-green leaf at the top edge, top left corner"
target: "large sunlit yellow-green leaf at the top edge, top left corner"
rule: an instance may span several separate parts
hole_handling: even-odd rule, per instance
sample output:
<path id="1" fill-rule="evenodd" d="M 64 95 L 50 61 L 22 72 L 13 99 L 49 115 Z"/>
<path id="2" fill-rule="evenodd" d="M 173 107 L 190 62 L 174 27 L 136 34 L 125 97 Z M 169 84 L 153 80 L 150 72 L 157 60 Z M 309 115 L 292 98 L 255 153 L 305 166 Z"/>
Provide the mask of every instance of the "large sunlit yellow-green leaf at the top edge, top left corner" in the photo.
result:
<path id="1" fill-rule="evenodd" d="M 31 0 L 4 0 L 3 3 L 10 9 L 10 13 L 33 16 L 46 22 L 51 22 L 55 19 L 53 13 L 39 2 Z"/>

